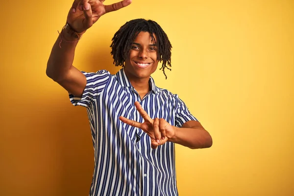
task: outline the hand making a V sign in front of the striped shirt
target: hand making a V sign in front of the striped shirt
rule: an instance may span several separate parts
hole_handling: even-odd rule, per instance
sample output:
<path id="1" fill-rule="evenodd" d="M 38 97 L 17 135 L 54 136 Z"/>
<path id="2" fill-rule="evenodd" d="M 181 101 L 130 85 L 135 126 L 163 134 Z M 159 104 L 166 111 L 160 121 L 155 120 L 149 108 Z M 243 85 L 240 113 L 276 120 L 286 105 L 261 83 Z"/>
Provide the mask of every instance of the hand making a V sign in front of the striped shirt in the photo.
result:
<path id="1" fill-rule="evenodd" d="M 135 102 L 135 106 L 140 115 L 143 117 L 145 121 L 144 123 L 138 123 L 122 116 L 120 117 L 120 120 L 123 123 L 141 128 L 144 132 L 146 132 L 151 138 L 151 147 L 153 149 L 157 148 L 159 145 L 165 144 L 174 136 L 175 130 L 170 123 L 164 119 L 151 119 L 138 101 Z"/>

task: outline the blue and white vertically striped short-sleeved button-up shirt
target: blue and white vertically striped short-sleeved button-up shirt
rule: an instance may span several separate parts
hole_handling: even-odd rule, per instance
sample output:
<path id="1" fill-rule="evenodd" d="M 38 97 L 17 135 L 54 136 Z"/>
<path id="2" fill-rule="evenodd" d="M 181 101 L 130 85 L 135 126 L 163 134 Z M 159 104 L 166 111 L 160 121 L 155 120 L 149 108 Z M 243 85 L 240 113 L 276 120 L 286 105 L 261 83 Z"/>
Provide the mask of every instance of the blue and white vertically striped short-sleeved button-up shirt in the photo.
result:
<path id="1" fill-rule="evenodd" d="M 82 72 L 87 85 L 82 98 L 70 94 L 73 105 L 87 108 L 95 168 L 90 196 L 177 196 L 174 144 L 151 148 L 149 136 L 140 128 L 125 124 L 120 116 L 143 123 L 135 108 L 139 101 L 151 119 L 163 118 L 181 127 L 197 121 L 185 103 L 168 90 L 155 86 L 141 99 L 124 69 L 115 75 L 106 70 Z"/>

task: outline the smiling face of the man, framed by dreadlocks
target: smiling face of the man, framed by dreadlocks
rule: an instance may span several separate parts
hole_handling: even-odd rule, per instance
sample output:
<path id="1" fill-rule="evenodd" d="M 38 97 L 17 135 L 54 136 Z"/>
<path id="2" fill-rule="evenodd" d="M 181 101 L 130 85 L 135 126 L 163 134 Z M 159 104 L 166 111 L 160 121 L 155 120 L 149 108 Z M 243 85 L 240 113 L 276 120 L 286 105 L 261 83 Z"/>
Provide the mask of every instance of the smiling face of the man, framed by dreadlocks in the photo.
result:
<path id="1" fill-rule="evenodd" d="M 155 35 L 153 35 L 156 39 Z M 141 31 L 132 43 L 129 56 L 125 59 L 124 71 L 130 81 L 149 79 L 158 65 L 157 47 L 148 32 Z"/>

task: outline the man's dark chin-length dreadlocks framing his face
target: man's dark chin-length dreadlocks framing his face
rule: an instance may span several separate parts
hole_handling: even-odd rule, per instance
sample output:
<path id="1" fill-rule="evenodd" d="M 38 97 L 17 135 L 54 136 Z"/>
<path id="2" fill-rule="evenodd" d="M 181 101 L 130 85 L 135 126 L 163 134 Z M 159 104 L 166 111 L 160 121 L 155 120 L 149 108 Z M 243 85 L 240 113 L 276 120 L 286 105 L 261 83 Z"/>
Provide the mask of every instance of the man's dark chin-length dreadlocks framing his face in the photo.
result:
<path id="1" fill-rule="evenodd" d="M 120 65 L 124 67 L 124 61 L 129 55 L 131 45 L 141 31 L 150 33 L 153 42 L 155 42 L 153 34 L 156 36 L 157 40 L 155 45 L 158 48 L 157 60 L 162 61 L 162 67 L 160 70 L 162 69 L 167 79 L 167 75 L 164 70 L 165 68 L 171 70 L 169 67 L 172 67 L 172 45 L 167 34 L 155 21 L 135 19 L 126 22 L 123 26 L 121 26 L 121 28 L 114 34 L 111 40 L 112 43 L 110 47 L 112 48 L 111 54 L 113 55 L 114 59 L 113 63 L 115 63 L 115 66 Z"/>

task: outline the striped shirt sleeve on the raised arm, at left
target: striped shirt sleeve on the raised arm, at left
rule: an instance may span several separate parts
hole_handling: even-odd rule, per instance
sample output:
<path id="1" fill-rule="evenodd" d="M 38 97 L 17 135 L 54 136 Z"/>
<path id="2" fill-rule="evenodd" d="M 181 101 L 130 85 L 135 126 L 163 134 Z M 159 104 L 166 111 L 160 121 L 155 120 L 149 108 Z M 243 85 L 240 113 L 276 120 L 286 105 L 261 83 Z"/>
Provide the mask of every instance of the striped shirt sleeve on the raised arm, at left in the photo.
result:
<path id="1" fill-rule="evenodd" d="M 97 99 L 100 93 L 110 79 L 110 73 L 106 70 L 100 70 L 97 73 L 87 73 L 81 71 L 86 76 L 87 84 L 81 98 L 69 94 L 70 100 L 74 106 L 81 105 L 89 107 Z"/>

